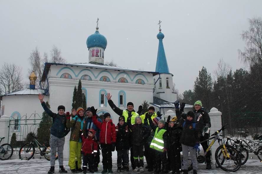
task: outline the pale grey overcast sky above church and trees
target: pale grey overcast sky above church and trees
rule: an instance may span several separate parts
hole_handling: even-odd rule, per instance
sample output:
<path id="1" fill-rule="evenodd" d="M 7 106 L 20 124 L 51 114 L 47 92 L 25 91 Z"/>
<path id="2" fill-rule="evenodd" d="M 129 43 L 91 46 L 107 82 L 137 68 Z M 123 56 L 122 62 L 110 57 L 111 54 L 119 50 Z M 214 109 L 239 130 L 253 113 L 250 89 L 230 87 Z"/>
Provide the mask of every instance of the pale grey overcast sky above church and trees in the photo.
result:
<path id="1" fill-rule="evenodd" d="M 262 16 L 262 1 L 0 1 L 0 67 L 4 62 L 23 67 L 28 80 L 28 57 L 53 45 L 68 63 L 88 62 L 86 39 L 95 32 L 107 38 L 105 62 L 131 69 L 155 71 L 158 21 L 169 71 L 179 92 L 193 89 L 202 66 L 212 73 L 223 58 L 234 71 L 244 67 L 238 49 L 248 18 Z M 50 58 L 50 57 L 49 57 Z"/>

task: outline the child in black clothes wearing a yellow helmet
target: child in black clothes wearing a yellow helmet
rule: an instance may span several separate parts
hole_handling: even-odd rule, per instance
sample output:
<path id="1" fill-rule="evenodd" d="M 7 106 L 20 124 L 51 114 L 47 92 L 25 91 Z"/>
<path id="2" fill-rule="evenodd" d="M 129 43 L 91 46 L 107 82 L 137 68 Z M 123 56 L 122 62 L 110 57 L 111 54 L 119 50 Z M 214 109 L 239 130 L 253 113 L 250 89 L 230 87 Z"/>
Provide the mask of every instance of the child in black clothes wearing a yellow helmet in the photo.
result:
<path id="1" fill-rule="evenodd" d="M 170 115 L 167 117 L 165 128 L 168 131 L 168 149 L 167 159 L 168 166 L 170 167 L 170 173 L 180 173 L 181 159 L 180 152 L 182 151 L 181 143 L 179 142 L 182 135 L 182 127 L 179 125 L 177 117 L 174 116 L 170 120 Z"/>

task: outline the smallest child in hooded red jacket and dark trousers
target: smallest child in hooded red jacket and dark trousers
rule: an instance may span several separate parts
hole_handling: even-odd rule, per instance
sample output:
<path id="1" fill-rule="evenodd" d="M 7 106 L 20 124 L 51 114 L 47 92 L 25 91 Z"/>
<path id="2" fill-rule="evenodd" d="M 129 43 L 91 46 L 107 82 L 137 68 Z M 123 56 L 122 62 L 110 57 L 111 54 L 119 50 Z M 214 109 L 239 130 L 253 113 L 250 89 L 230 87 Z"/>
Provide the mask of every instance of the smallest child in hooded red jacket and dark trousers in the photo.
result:
<path id="1" fill-rule="evenodd" d="M 98 145 L 95 140 L 95 131 L 90 129 L 88 131 L 88 136 L 85 137 L 83 133 L 81 134 L 82 137 L 82 149 L 83 152 L 83 173 L 87 171 L 87 164 L 89 166 L 89 171 L 94 173 L 94 157 L 97 154 Z"/>

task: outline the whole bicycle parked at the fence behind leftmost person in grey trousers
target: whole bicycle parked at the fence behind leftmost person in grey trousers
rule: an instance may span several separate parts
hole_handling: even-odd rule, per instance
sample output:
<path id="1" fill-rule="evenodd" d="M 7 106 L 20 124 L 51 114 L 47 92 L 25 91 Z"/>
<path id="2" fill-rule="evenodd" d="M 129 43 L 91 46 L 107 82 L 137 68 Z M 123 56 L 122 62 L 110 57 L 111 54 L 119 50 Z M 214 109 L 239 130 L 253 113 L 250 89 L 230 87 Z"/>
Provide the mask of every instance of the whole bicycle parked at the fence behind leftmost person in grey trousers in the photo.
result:
<path id="1" fill-rule="evenodd" d="M 25 143 L 19 150 L 19 158 L 21 160 L 30 160 L 33 158 L 35 154 L 40 154 L 41 156 L 44 156 L 45 159 L 50 161 L 50 154 L 51 154 L 51 148 L 49 145 L 49 142 L 44 142 L 43 145 L 41 145 L 37 140 L 37 137 L 34 137 L 34 139 L 30 143 Z M 37 152 L 35 150 L 35 145 L 37 145 Z M 55 160 L 58 159 L 58 154 L 55 155 Z"/>

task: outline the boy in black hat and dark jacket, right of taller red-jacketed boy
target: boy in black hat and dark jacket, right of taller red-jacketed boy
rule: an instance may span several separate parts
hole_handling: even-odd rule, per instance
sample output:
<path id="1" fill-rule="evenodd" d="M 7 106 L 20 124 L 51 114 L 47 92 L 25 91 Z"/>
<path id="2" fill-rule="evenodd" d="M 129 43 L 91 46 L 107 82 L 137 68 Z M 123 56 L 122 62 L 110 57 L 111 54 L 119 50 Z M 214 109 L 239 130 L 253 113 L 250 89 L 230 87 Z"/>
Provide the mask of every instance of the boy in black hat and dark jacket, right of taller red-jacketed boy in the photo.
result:
<path id="1" fill-rule="evenodd" d="M 125 122 L 125 117 L 120 116 L 118 118 L 118 124 L 116 126 L 117 142 L 116 142 L 116 151 L 117 151 L 117 172 L 121 172 L 122 166 L 124 172 L 129 171 L 129 131 L 127 123 Z"/>

